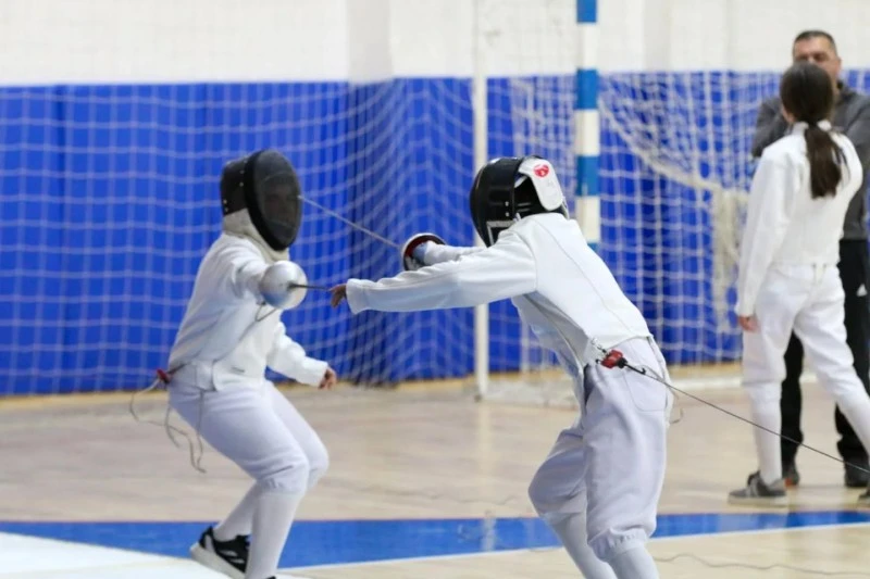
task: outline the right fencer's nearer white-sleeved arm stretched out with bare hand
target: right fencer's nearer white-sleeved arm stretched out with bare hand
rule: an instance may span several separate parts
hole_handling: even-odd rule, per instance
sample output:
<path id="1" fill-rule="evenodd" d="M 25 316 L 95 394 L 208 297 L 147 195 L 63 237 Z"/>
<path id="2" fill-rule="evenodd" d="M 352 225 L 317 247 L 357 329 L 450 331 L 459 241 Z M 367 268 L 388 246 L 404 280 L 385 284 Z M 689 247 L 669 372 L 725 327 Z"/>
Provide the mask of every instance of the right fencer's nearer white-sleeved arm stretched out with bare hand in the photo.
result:
<path id="1" fill-rule="evenodd" d="M 428 257 L 428 252 L 426 252 Z M 535 291 L 537 265 L 529 246 L 505 231 L 490 248 L 468 252 L 378 281 L 350 279 L 350 311 L 413 312 L 470 307 Z"/>

